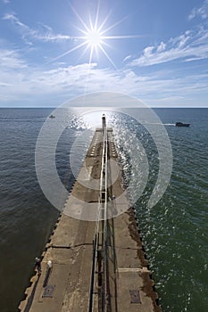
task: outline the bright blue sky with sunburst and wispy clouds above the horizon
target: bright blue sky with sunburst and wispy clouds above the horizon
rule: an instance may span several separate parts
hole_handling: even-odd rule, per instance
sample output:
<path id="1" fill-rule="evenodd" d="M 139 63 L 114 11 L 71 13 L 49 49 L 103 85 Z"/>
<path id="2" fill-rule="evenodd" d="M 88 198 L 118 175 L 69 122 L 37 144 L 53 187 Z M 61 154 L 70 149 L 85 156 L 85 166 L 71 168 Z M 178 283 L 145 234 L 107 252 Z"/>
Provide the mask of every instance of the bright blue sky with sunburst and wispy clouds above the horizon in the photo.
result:
<path id="1" fill-rule="evenodd" d="M 208 0 L 0 0 L 0 107 L 97 91 L 208 107 Z"/>

